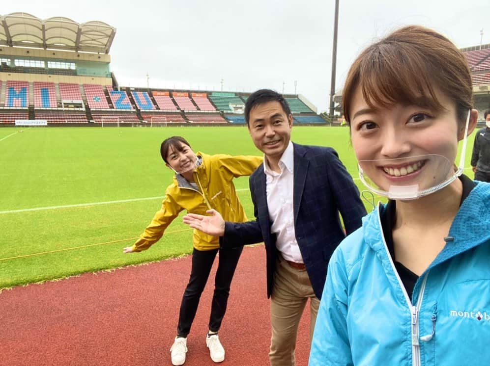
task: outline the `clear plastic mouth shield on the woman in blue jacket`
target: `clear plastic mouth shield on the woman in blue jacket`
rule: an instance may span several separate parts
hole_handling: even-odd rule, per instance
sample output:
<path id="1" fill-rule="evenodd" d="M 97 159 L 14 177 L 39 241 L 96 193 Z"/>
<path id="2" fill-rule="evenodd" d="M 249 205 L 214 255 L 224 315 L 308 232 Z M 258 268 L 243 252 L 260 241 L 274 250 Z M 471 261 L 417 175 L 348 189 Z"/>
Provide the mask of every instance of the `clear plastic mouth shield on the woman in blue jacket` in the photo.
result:
<path id="1" fill-rule="evenodd" d="M 395 159 L 359 160 L 359 179 L 375 194 L 393 200 L 413 200 L 451 184 L 463 172 L 471 110 L 468 111 L 460 164 L 442 155 L 420 155 Z M 376 177 L 375 183 L 370 177 Z"/>

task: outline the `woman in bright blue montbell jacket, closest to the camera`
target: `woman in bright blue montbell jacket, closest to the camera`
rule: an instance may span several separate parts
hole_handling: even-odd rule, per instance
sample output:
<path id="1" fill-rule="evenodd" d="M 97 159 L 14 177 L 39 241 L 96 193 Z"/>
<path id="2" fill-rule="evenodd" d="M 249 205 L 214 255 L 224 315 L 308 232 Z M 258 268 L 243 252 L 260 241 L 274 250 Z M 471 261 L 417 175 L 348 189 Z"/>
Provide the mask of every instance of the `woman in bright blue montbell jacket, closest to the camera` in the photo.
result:
<path id="1" fill-rule="evenodd" d="M 310 365 L 489 365 L 490 184 L 461 174 L 478 115 L 464 56 L 396 30 L 353 63 L 343 106 L 360 179 L 389 200 L 330 260 Z"/>

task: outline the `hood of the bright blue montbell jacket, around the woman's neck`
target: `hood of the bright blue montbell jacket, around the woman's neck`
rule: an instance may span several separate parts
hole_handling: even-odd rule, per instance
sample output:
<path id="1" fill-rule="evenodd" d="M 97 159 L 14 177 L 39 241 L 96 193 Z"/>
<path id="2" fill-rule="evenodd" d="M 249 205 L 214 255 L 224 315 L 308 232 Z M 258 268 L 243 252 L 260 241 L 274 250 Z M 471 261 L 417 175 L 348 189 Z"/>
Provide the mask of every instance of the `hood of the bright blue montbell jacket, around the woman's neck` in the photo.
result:
<path id="1" fill-rule="evenodd" d="M 376 209 L 363 217 L 364 238 L 376 253 L 385 251 L 384 237 L 379 217 L 386 205 L 379 203 Z M 444 249 L 435 258 L 428 269 L 446 261 L 462 252 L 490 240 L 490 183 L 477 182 L 470 194 L 463 201 L 456 214 Z"/>

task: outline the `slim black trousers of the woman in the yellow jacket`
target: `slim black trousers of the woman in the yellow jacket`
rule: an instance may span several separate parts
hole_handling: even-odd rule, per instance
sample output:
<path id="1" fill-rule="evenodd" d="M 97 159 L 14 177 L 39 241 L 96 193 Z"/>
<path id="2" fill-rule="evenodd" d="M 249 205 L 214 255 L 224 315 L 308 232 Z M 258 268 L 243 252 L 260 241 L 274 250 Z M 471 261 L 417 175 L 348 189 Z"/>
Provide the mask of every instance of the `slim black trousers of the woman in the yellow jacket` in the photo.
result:
<path id="1" fill-rule="evenodd" d="M 219 252 L 218 269 L 214 278 L 214 294 L 209 316 L 209 330 L 217 332 L 226 313 L 231 280 L 236 264 L 240 259 L 243 247 L 232 249 L 213 249 L 201 251 L 194 248 L 192 252 L 192 269 L 189 283 L 184 291 L 177 326 L 177 336 L 187 337 L 198 310 L 199 299 L 206 286 L 211 267 Z"/>

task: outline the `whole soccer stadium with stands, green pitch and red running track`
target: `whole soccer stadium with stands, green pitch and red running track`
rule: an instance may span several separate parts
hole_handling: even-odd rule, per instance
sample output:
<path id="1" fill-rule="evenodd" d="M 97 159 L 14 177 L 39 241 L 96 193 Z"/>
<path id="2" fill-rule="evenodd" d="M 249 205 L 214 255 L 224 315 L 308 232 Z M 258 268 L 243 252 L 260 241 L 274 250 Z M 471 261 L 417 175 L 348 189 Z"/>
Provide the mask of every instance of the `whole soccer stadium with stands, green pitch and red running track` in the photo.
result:
<path id="1" fill-rule="evenodd" d="M 174 332 L 188 281 L 187 269 L 182 273 L 179 266 L 190 266 L 192 229 L 182 223 L 182 213 L 151 250 L 122 253 L 160 208 L 166 184 L 172 181 L 173 172 L 158 154 L 160 143 L 182 135 L 206 154 L 261 155 L 250 142 L 244 119 L 245 103 L 254 90 L 121 85 L 111 67 L 118 63 L 111 57 L 116 26 L 103 21 L 80 24 L 64 17 L 40 19 L 28 13 L 0 15 L 0 297 L 26 290 L 19 300 L 9 302 L 8 309 L 0 298 L 0 322 L 11 329 L 0 340 L 10 364 L 47 365 L 55 360 L 52 364 L 170 365 L 168 340 L 161 338 L 173 333 L 162 334 L 158 328 L 164 324 L 165 332 Z M 484 111 L 490 109 L 490 44 L 461 51 L 471 68 L 478 124 L 484 126 Z M 257 85 L 262 87 L 267 86 Z M 294 121 L 294 141 L 334 148 L 363 191 L 349 129 L 342 127 L 342 90 L 333 97 L 333 117 L 319 113 L 308 95 L 284 97 Z M 468 138 L 465 169 L 471 169 L 473 140 L 474 134 Z M 248 177 L 234 182 L 250 219 L 254 205 Z M 368 212 L 373 209 L 369 202 L 365 206 Z M 268 360 L 265 284 L 250 281 L 254 276 L 265 279 L 265 255 L 262 245 L 249 247 L 234 281 L 254 298 L 230 296 L 236 314 L 230 310 L 233 321 L 227 327 L 229 333 L 253 333 L 256 338 L 248 348 L 230 344 L 229 365 L 266 365 Z M 150 266 L 153 272 L 147 271 Z M 117 281 L 111 277 L 115 272 L 121 275 Z M 92 278 L 102 282 L 90 282 Z M 56 288 L 58 281 L 65 287 Z M 149 294 L 142 284 L 159 288 L 165 296 Z M 135 298 L 128 299 L 126 289 L 135 291 Z M 76 295 L 67 299 L 65 291 Z M 212 288 L 206 285 L 202 302 L 207 306 L 211 297 Z M 146 301 L 142 308 L 139 299 Z M 7 322 L 2 314 L 21 305 L 29 313 L 26 320 Z M 155 309 L 165 314 L 145 317 Z M 53 315 L 48 330 L 40 313 Z M 242 316 L 245 313 L 250 317 Z M 201 310 L 197 315 L 200 320 L 206 316 Z M 251 324 L 251 318 L 257 324 Z M 298 331 L 298 360 L 308 359 L 307 320 L 301 320 Z M 196 320 L 196 330 L 207 331 L 206 321 Z M 129 329 L 135 323 L 141 329 Z M 101 334 L 100 329 L 114 332 Z M 76 341 L 68 344 L 67 334 Z M 131 345 L 141 348 L 128 351 L 127 342 L 141 342 Z M 212 365 L 207 356 L 201 359 L 208 353 L 205 346 L 199 347 L 189 352 L 186 365 Z M 243 361 L 249 357 L 250 363 Z"/>

